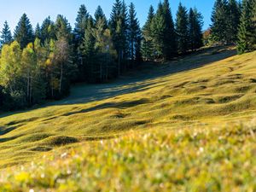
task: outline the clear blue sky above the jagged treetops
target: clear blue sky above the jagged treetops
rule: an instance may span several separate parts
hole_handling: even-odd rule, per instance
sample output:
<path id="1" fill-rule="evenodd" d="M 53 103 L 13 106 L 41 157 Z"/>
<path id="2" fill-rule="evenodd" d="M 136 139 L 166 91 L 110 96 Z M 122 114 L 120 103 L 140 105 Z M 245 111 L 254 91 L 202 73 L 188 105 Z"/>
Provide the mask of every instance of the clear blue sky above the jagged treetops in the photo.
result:
<path id="1" fill-rule="evenodd" d="M 214 0 L 169 1 L 174 18 L 177 12 L 177 5 L 179 2 L 182 2 L 188 9 L 190 7 L 196 7 L 201 11 L 205 21 L 204 29 L 209 26 Z M 65 15 L 73 26 L 81 4 L 85 4 L 91 15 L 94 14 L 96 7 L 101 5 L 105 15 L 109 18 L 113 2 L 114 0 L 4 0 L 4 3 L 1 3 L 0 9 L 0 28 L 2 30 L 4 20 L 8 20 L 9 26 L 14 30 L 23 13 L 28 15 L 33 27 L 35 27 L 38 22 L 41 24 L 48 15 L 52 20 L 55 20 L 56 15 L 59 14 Z M 126 4 L 133 2 L 136 5 L 137 17 L 141 25 L 143 25 L 147 19 L 150 4 L 156 9 L 160 0 L 126 0 L 125 2 Z"/>

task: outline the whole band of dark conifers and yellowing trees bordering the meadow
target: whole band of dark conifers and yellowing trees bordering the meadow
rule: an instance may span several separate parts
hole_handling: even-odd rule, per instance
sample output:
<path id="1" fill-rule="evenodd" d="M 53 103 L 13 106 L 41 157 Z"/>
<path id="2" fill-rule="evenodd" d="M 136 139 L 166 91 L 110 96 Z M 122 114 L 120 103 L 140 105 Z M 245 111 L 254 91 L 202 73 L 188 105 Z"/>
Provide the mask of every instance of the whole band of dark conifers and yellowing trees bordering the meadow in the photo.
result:
<path id="1" fill-rule="evenodd" d="M 178 6 L 173 20 L 168 0 L 151 6 L 140 28 L 135 6 L 116 0 L 108 20 L 102 8 L 92 17 L 81 5 L 72 29 L 63 15 L 32 28 L 22 15 L 12 36 L 8 22 L 1 35 L 0 111 L 31 107 L 69 94 L 70 84 L 118 78 L 143 61 L 169 61 L 202 46 L 236 44 L 238 52 L 256 49 L 256 1 L 217 0 L 212 25 L 202 32 L 197 9 Z"/>

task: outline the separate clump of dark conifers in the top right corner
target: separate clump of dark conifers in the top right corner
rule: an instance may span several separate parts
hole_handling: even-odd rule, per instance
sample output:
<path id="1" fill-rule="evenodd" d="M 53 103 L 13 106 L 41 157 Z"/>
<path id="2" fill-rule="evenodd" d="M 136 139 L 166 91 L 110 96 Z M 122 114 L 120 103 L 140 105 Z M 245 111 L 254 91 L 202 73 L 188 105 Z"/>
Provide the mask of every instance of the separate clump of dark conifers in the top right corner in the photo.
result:
<path id="1" fill-rule="evenodd" d="M 206 44 L 236 44 L 239 54 L 256 49 L 256 0 L 216 0 Z"/>

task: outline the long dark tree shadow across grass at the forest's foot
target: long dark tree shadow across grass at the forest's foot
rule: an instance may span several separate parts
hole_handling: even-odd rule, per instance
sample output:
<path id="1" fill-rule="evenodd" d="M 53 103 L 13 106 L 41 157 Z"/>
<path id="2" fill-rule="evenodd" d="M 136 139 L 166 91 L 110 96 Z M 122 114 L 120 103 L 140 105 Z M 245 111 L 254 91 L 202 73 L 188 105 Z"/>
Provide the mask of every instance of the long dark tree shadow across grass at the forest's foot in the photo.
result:
<path id="1" fill-rule="evenodd" d="M 115 96 L 148 90 L 156 83 L 147 82 L 147 80 L 153 81 L 154 79 L 164 78 L 170 74 L 204 67 L 212 62 L 221 61 L 234 55 L 236 55 L 236 49 L 229 49 L 228 47 L 221 46 L 202 49 L 196 53 L 176 58 L 176 61 L 171 61 L 166 64 L 154 62 L 143 63 L 137 67 L 135 71 L 130 72 L 129 75 L 126 74 L 125 76 L 113 80 L 108 84 L 76 84 L 71 90 L 71 95 L 66 99 L 57 102 L 48 102 L 47 104 L 41 105 L 37 108 L 96 102 Z M 157 83 L 159 84 L 163 82 L 164 81 L 158 81 Z M 100 105 L 94 108 L 85 109 L 84 112 L 96 110 L 98 108 L 111 108 L 113 106 L 115 108 L 122 108 L 122 105 L 125 105 L 125 103 L 120 103 L 120 105 L 117 105 L 116 103 L 106 103 L 102 106 Z M 130 105 L 132 106 L 132 103 L 128 103 L 127 107 Z M 137 105 L 137 103 L 134 103 L 134 105 Z M 36 108 L 31 108 L 29 110 L 34 109 Z M 0 114 L 0 118 L 24 112 L 27 112 L 27 110 L 15 113 L 3 113 Z M 70 115 L 72 114 L 73 113 L 70 113 Z"/>

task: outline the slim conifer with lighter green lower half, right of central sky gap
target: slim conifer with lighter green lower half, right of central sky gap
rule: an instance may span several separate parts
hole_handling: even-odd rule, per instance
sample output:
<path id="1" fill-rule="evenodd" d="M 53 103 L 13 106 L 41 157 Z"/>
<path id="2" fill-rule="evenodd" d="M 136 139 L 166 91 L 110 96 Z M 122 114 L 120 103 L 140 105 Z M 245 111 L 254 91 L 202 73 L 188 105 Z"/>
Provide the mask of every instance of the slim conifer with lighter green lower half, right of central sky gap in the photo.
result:
<path id="1" fill-rule="evenodd" d="M 150 61 L 154 59 L 154 45 L 151 26 L 154 19 L 154 8 L 151 5 L 148 11 L 148 19 L 143 26 L 142 54 L 143 59 Z"/>

